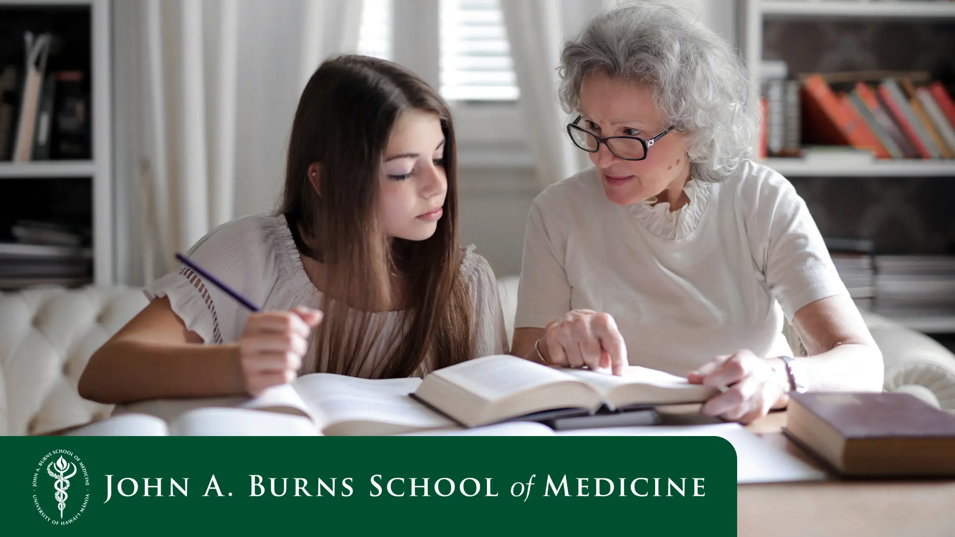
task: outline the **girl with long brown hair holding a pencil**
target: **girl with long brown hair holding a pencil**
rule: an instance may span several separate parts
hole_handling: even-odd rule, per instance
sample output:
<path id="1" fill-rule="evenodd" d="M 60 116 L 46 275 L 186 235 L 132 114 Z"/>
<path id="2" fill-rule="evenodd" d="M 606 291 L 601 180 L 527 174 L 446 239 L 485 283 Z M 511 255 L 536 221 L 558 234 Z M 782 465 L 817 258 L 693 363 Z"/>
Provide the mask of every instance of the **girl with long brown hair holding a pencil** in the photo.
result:
<path id="1" fill-rule="evenodd" d="M 209 232 L 187 267 L 94 354 L 80 395 L 109 402 L 258 394 L 303 373 L 422 376 L 506 352 L 493 271 L 457 240 L 455 135 L 417 76 L 329 59 L 299 101 L 275 214 Z"/>

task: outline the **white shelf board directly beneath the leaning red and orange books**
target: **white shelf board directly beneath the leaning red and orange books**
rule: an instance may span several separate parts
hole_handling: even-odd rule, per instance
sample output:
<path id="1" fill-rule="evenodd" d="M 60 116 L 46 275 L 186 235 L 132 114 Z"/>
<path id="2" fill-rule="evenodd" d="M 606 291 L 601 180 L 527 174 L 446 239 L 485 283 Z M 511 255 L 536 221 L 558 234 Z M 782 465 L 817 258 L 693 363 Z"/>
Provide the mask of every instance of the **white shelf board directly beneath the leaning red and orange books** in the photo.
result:
<path id="1" fill-rule="evenodd" d="M 767 159 L 763 162 L 780 174 L 792 177 L 955 177 L 955 160 L 874 161 L 861 166 L 801 159 Z"/>

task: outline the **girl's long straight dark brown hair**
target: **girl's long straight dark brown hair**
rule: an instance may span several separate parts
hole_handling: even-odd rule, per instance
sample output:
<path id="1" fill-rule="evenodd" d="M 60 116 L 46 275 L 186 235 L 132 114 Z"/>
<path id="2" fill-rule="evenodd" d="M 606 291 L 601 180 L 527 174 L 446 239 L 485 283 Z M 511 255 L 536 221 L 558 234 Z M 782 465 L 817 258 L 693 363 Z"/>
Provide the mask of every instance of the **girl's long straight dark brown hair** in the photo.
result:
<path id="1" fill-rule="evenodd" d="M 385 237 L 377 218 L 382 163 L 395 120 L 410 110 L 435 114 L 444 132 L 448 181 L 444 216 L 424 241 Z M 308 167 L 320 167 L 319 192 Z M 433 356 L 435 368 L 472 354 L 471 297 L 457 242 L 455 132 L 444 100 L 419 77 L 390 61 L 361 55 L 331 58 L 308 80 L 288 143 L 279 212 L 300 250 L 323 262 L 319 283 L 325 318 L 305 373 L 358 376 L 371 354 L 384 358 L 371 376 L 411 376 Z M 400 282 L 393 289 L 393 282 Z M 371 313 L 407 309 L 403 337 L 382 341 Z"/>

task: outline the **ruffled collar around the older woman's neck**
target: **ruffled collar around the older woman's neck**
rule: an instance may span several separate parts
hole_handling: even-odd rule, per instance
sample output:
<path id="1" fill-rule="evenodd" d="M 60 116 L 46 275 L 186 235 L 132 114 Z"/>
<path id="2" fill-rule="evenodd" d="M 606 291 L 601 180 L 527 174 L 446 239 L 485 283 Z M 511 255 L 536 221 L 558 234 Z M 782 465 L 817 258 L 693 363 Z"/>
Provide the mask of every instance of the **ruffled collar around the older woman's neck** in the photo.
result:
<path id="1" fill-rule="evenodd" d="M 690 203 L 675 211 L 669 210 L 668 202 L 655 204 L 655 196 L 640 204 L 626 205 L 626 208 L 657 237 L 670 241 L 685 239 L 703 220 L 703 211 L 710 201 L 712 183 L 691 179 L 683 187 L 683 191 L 690 198 Z"/>

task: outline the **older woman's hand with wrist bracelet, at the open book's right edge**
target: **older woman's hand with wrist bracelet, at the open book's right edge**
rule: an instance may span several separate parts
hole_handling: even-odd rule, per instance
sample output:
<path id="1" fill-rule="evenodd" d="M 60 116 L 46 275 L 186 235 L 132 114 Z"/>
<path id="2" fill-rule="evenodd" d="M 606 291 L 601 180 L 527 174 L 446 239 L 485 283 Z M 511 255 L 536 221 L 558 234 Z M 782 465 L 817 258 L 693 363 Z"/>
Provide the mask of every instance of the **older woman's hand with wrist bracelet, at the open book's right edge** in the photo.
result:
<path id="1" fill-rule="evenodd" d="M 785 403 L 789 377 L 780 358 L 761 358 L 750 351 L 716 356 L 687 379 L 691 384 L 727 387 L 700 410 L 707 416 L 749 423 Z"/>

